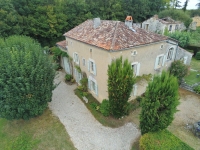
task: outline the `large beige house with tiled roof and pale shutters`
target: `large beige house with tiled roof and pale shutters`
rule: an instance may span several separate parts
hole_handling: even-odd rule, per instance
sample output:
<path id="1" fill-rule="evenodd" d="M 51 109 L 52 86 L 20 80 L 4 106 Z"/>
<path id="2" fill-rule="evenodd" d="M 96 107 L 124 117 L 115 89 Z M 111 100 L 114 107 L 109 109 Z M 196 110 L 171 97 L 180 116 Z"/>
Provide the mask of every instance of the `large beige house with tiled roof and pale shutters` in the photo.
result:
<path id="1" fill-rule="evenodd" d="M 86 20 L 65 33 L 65 41 L 57 43 L 73 58 L 71 63 L 66 57 L 61 59 L 65 71 L 69 74 L 73 72 L 76 82 L 80 84 L 82 74 L 75 67 L 79 66 L 88 78 L 89 91 L 100 102 L 108 98 L 107 70 L 116 58 L 128 58 L 135 76 L 160 74 L 175 59 L 186 59 L 176 40 L 133 27 L 132 23 L 130 16 L 125 23 L 100 18 Z M 179 54 L 177 51 L 180 51 Z M 191 56 L 188 55 L 185 63 L 190 64 L 190 61 Z M 133 85 L 131 98 L 144 93 L 146 86 L 145 81 Z"/>

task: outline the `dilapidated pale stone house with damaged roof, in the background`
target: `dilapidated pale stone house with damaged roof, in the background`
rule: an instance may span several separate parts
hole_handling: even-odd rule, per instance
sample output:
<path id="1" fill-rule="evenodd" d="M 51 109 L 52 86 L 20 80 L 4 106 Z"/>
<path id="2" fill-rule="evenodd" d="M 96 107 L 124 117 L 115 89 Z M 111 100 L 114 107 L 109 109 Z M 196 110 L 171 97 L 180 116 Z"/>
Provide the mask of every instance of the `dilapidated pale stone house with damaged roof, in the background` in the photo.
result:
<path id="1" fill-rule="evenodd" d="M 170 17 L 159 19 L 158 15 L 154 15 L 142 23 L 142 29 L 150 32 L 164 34 L 165 30 L 168 32 L 183 31 L 186 29 L 183 22 L 175 21 Z"/>

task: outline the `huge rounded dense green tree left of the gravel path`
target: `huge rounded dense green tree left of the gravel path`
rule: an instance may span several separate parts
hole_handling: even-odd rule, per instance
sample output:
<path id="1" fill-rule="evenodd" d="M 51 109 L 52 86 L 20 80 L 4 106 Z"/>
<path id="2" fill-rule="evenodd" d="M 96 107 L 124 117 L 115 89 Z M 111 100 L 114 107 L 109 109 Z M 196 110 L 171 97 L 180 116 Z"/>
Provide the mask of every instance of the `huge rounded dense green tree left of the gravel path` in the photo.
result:
<path id="1" fill-rule="evenodd" d="M 52 100 L 55 71 L 33 39 L 0 39 L 0 116 L 29 119 L 41 115 Z"/>

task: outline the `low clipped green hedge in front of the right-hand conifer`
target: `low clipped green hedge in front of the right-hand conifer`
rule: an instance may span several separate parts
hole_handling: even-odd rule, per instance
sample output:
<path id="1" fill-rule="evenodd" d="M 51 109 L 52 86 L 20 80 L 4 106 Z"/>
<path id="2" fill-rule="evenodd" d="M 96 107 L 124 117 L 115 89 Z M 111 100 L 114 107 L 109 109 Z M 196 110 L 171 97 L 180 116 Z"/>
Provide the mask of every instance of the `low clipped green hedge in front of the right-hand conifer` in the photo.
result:
<path id="1" fill-rule="evenodd" d="M 168 130 L 146 133 L 140 138 L 140 150 L 193 150 Z"/>

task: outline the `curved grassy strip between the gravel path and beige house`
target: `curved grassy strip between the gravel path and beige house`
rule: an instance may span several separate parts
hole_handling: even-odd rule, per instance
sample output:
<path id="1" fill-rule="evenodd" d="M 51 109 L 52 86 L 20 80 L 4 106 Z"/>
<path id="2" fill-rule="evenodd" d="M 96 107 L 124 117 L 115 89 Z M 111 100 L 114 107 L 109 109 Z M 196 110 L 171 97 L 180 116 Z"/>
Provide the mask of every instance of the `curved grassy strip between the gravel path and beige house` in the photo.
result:
<path id="1" fill-rule="evenodd" d="M 100 103 L 91 95 L 88 94 L 86 97 L 88 99 L 88 103 L 85 103 L 85 101 L 82 99 L 81 92 L 76 89 L 75 94 L 83 101 L 85 106 L 90 110 L 90 112 L 93 114 L 93 116 L 104 126 L 116 128 L 123 126 L 127 122 L 127 118 L 124 117 L 122 119 L 115 119 L 111 116 L 109 117 L 104 117 L 100 111 L 96 110 L 98 106 L 100 106 Z M 95 106 L 95 107 L 94 107 Z M 96 107 L 97 106 L 97 107 Z M 136 108 L 139 107 L 139 104 L 137 101 L 132 102 L 132 108 L 131 110 L 135 110 Z"/>

